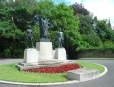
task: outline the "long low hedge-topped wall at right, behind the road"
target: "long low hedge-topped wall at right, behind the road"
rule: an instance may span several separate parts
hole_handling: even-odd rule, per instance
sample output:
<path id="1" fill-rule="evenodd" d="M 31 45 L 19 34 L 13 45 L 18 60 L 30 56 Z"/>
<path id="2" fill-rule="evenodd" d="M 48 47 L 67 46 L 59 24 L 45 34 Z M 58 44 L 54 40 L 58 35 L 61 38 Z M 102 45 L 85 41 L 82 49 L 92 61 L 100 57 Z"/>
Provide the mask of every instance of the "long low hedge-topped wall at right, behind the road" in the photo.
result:
<path id="1" fill-rule="evenodd" d="M 114 58 L 114 47 L 79 49 L 77 58 Z"/>

